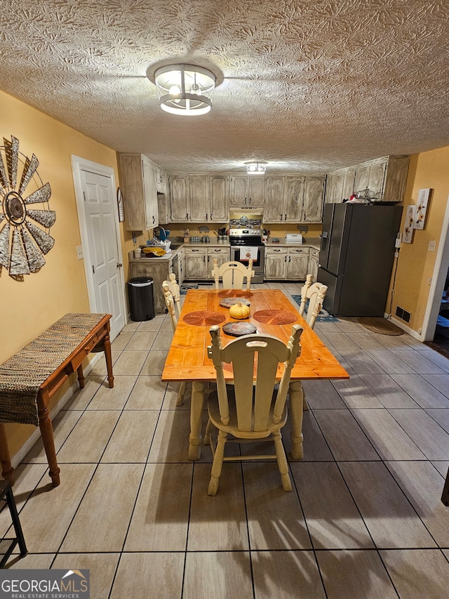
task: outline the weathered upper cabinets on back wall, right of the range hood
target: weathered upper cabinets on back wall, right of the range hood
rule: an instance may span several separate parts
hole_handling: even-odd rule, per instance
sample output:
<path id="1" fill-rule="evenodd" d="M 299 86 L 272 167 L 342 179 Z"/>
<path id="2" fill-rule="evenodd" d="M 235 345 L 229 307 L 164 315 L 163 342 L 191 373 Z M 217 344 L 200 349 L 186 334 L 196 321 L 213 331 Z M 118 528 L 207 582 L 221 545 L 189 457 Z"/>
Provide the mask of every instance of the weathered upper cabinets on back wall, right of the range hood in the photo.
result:
<path id="1" fill-rule="evenodd" d="M 267 176 L 264 223 L 321 223 L 324 175 Z"/>

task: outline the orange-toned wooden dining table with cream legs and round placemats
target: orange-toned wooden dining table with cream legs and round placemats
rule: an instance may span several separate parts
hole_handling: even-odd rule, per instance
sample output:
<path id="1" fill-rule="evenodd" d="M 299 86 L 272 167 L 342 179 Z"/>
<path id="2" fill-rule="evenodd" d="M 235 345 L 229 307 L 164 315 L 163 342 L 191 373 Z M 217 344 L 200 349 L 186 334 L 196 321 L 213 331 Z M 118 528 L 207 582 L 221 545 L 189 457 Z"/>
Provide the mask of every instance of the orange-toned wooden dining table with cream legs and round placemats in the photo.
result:
<path id="1" fill-rule="evenodd" d="M 227 298 L 243 298 L 249 301 L 250 316 L 235 320 L 229 308 L 220 305 Z M 216 381 L 215 368 L 208 357 L 210 345 L 209 328 L 217 324 L 221 328 L 223 347 L 236 336 L 227 334 L 223 325 L 249 323 L 257 334 L 272 335 L 287 343 L 293 324 L 304 329 L 300 338 L 301 354 L 290 376 L 291 456 L 303 458 L 302 449 L 302 381 L 318 379 L 349 379 L 349 374 L 335 356 L 326 348 L 319 336 L 300 316 L 297 308 L 279 289 L 250 291 L 224 289 L 189 289 L 170 344 L 163 381 L 192 381 L 190 408 L 189 459 L 201 457 L 201 423 L 204 406 L 204 388 L 208 381 Z M 226 329 L 226 327 L 225 327 Z M 233 379 L 232 366 L 225 364 L 225 379 Z M 276 380 L 281 380 L 283 366 L 280 364 Z"/>

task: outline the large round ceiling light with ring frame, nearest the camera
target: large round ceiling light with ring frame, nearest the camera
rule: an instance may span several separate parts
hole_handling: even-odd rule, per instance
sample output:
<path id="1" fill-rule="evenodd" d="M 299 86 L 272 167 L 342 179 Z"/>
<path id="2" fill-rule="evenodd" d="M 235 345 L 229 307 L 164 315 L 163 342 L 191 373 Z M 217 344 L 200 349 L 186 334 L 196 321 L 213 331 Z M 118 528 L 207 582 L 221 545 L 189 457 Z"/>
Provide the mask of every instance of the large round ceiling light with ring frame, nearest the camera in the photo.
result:
<path id="1" fill-rule="evenodd" d="M 171 114 L 206 114 L 212 106 L 215 75 L 194 65 L 167 65 L 154 72 L 162 110 Z"/>

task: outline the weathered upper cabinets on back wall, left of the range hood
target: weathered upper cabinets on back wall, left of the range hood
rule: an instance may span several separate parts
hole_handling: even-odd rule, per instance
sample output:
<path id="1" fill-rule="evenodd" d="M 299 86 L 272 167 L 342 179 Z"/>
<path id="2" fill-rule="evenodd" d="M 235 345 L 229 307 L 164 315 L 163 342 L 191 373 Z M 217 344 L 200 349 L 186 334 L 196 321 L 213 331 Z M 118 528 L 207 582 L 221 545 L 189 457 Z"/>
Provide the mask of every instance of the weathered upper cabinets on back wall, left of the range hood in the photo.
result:
<path id="1" fill-rule="evenodd" d="M 229 218 L 226 175 L 170 176 L 171 222 L 225 223 Z"/>

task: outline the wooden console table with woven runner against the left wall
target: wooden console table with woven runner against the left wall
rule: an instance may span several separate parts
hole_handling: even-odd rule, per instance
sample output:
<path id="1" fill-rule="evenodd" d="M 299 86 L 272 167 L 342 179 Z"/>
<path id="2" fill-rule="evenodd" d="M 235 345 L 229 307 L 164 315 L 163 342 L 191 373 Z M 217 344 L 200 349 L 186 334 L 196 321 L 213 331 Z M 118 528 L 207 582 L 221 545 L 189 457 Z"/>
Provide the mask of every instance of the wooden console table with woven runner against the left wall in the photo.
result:
<path id="1" fill-rule="evenodd" d="M 84 387 L 83 360 L 92 351 L 104 351 L 109 388 L 114 387 L 110 314 L 67 314 L 17 354 L 0 365 L 1 475 L 13 482 L 13 467 L 5 422 L 39 424 L 53 487 L 60 484 L 53 427 L 48 413 L 51 397 L 69 376 L 78 374 Z"/>

